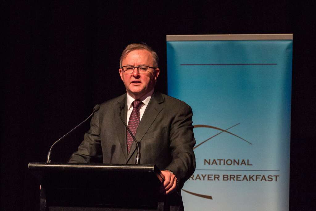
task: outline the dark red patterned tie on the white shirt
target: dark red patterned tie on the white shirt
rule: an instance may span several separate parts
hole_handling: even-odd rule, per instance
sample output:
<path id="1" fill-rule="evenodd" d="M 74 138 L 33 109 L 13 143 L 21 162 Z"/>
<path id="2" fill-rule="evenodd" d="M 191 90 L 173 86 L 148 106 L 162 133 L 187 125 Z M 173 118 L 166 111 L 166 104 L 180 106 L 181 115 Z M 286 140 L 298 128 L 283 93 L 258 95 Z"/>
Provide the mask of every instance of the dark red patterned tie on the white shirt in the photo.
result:
<path id="1" fill-rule="evenodd" d="M 143 102 L 140 100 L 134 100 L 132 102 L 133 105 L 133 111 L 131 113 L 130 119 L 128 121 L 128 128 L 131 130 L 132 134 L 135 136 L 138 125 L 139 125 L 139 119 L 140 119 L 140 113 L 139 113 L 139 106 L 142 105 Z M 127 132 L 127 151 L 130 153 L 130 149 L 133 143 L 133 137 L 131 134 Z"/>

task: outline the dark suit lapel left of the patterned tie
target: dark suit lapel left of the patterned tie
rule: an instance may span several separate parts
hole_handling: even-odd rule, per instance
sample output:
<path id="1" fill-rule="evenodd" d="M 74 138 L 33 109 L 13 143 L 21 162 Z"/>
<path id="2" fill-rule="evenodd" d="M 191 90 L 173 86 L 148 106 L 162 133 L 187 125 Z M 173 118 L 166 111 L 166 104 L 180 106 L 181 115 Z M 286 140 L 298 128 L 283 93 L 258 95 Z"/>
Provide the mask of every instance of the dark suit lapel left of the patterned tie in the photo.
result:
<path id="1" fill-rule="evenodd" d="M 116 108 L 114 108 L 114 121 L 115 121 L 116 129 L 117 129 L 117 134 L 119 136 L 119 142 L 121 144 L 121 148 L 123 150 L 123 154 L 125 156 L 125 159 L 127 158 L 126 128 L 125 128 L 125 125 L 122 123 L 122 120 L 119 117 L 119 113 L 120 113 L 120 107 L 123 106 L 121 116 L 122 116 L 124 122 L 126 122 L 126 117 L 127 117 L 127 106 L 125 106 L 126 100 L 127 100 L 127 98 L 126 98 L 126 94 L 125 94 L 125 95 L 123 95 L 122 98 L 118 99 L 118 105 L 116 106 Z"/>

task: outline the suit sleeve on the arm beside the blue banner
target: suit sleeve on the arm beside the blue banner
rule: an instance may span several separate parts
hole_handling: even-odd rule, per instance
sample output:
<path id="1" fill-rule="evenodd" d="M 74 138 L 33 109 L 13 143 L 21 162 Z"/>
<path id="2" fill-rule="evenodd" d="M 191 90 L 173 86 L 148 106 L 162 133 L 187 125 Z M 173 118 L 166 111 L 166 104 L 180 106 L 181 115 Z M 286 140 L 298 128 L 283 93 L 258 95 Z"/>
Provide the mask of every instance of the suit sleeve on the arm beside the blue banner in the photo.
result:
<path id="1" fill-rule="evenodd" d="M 195 170 L 193 147 L 195 139 L 192 126 L 192 109 L 189 105 L 179 109 L 170 131 L 171 163 L 165 168 L 173 171 L 178 179 L 178 188 L 190 178 Z"/>

